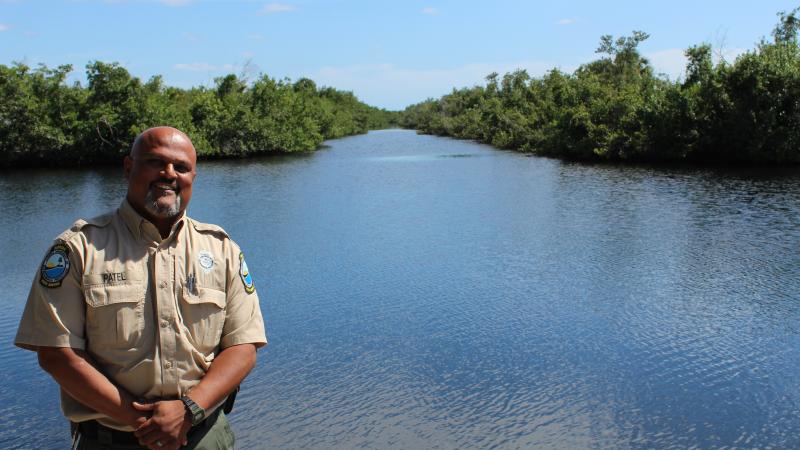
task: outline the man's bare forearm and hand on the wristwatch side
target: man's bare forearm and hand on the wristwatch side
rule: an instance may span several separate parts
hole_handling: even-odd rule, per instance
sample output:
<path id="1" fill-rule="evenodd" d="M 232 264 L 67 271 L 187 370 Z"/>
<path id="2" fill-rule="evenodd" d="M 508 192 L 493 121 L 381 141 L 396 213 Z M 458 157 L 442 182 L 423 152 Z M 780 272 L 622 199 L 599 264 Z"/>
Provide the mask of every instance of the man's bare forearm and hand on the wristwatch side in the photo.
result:
<path id="1" fill-rule="evenodd" d="M 201 408 L 208 410 L 221 403 L 236 386 L 241 384 L 256 364 L 256 346 L 240 344 L 222 350 L 208 372 L 195 386 L 188 396 Z M 134 433 L 139 443 L 150 448 L 177 448 L 186 443 L 186 433 L 191 428 L 183 402 L 180 400 L 164 400 L 149 404 L 135 403 L 142 412 L 152 412 L 152 417 L 145 421 Z M 161 442 L 163 446 L 154 446 Z"/>

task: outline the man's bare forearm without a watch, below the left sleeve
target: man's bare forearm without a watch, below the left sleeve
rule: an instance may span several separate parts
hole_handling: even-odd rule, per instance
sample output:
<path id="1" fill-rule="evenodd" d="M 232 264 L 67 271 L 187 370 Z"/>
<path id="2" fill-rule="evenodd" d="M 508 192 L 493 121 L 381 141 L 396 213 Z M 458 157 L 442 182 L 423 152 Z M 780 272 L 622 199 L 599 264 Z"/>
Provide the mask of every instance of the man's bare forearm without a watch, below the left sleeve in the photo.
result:
<path id="1" fill-rule="evenodd" d="M 39 365 L 72 398 L 114 420 L 136 428 L 147 417 L 133 408 L 134 397 L 111 382 L 91 356 L 68 347 L 39 347 Z"/>

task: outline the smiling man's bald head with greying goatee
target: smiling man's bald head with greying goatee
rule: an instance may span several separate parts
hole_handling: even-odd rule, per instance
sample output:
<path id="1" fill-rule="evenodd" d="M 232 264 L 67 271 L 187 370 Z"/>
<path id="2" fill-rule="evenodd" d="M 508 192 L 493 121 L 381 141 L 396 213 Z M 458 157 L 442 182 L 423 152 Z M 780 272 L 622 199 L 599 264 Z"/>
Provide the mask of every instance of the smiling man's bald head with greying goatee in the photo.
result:
<path id="1" fill-rule="evenodd" d="M 172 127 L 143 131 L 125 157 L 128 203 L 156 226 L 171 225 L 192 198 L 196 164 L 192 141 L 182 131 Z"/>

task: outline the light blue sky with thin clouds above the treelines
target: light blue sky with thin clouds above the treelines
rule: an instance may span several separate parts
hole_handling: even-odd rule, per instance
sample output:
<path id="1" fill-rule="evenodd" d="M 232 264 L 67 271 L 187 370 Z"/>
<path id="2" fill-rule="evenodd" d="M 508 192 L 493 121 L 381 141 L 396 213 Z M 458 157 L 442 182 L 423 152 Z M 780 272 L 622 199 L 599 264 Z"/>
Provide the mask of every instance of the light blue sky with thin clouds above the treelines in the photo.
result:
<path id="1" fill-rule="evenodd" d="M 688 47 L 729 61 L 770 39 L 780 0 L 0 0 L 0 64 L 117 62 L 146 81 L 213 86 L 235 73 L 352 91 L 403 109 L 491 72 L 540 76 L 597 59 L 600 37 L 645 31 L 657 73 L 683 74 Z"/>

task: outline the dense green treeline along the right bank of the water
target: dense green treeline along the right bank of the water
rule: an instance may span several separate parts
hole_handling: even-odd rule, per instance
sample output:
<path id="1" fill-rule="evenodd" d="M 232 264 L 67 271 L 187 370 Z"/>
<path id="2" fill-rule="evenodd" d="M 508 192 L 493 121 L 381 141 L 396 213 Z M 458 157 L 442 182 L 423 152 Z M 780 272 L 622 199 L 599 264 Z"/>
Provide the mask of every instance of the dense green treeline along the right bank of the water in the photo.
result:
<path id="1" fill-rule="evenodd" d="M 493 73 L 486 86 L 408 107 L 403 126 L 569 159 L 797 163 L 797 13 L 780 13 L 772 41 L 733 63 L 714 63 L 707 44 L 689 48 L 680 81 L 640 55 L 646 33 L 603 36 L 603 57 L 573 74 Z"/>

